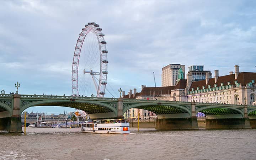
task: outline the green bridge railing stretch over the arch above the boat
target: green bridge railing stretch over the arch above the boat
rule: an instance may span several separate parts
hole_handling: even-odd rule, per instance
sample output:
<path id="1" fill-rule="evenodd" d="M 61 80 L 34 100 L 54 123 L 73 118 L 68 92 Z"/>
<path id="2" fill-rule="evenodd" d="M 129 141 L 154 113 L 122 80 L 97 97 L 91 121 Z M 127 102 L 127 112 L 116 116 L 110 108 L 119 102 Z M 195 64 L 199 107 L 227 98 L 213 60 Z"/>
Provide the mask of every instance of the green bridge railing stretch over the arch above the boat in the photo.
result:
<path id="1" fill-rule="evenodd" d="M 54 96 L 54 95 L 21 95 L 21 98 L 29 99 L 54 99 L 54 100 L 90 100 L 90 101 L 114 101 L 117 98 L 103 98 L 103 97 L 81 97 L 81 96 Z"/>

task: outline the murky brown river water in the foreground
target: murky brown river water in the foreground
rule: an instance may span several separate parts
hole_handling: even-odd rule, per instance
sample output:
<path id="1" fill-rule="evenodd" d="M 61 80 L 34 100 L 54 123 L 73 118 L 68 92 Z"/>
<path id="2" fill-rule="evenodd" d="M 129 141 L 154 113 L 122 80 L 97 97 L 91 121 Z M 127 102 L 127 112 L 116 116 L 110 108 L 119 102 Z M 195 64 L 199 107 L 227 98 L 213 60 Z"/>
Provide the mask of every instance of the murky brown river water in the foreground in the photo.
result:
<path id="1" fill-rule="evenodd" d="M 24 129 L 24 128 L 23 128 Z M 81 128 L 26 128 L 0 134 L 5 159 L 255 159 L 256 129 L 172 130 L 131 128 L 130 134 L 81 133 Z"/>

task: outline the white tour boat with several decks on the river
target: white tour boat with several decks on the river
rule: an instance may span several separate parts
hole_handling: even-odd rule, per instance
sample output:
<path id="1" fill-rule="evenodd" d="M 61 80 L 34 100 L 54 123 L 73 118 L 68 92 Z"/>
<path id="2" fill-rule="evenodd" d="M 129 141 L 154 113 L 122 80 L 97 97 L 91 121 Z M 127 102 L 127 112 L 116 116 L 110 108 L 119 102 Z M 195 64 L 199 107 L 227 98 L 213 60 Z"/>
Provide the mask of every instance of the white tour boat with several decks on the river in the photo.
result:
<path id="1" fill-rule="evenodd" d="M 97 119 L 82 124 L 81 130 L 85 133 L 130 133 L 127 119 Z"/>

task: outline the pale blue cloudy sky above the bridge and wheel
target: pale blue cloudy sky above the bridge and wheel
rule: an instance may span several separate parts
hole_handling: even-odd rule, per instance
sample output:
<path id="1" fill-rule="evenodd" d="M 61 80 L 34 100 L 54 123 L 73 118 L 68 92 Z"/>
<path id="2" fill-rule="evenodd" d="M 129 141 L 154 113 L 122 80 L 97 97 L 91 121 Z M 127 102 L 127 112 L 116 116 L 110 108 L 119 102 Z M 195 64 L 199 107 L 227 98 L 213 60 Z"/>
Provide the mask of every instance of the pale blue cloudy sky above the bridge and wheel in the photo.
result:
<path id="1" fill-rule="evenodd" d="M 96 22 L 108 50 L 107 82 L 141 91 L 161 86 L 162 67 L 204 65 L 219 75 L 256 72 L 256 1 L 0 1 L 0 90 L 71 95 L 73 54 L 81 28 Z M 111 89 L 112 90 L 112 89 Z M 105 97 L 112 97 L 106 94 Z M 63 113 L 64 107 L 26 111 Z"/>

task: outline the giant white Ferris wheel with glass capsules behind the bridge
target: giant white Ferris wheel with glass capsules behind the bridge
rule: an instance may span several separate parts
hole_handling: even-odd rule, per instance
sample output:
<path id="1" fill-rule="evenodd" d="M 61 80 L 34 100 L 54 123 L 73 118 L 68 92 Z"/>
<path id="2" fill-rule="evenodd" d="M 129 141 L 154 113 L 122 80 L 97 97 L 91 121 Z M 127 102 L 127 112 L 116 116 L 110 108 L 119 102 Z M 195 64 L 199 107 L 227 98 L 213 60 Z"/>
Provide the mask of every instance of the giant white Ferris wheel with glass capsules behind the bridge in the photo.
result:
<path id="1" fill-rule="evenodd" d="M 73 96 L 103 97 L 107 85 L 107 48 L 102 28 L 89 22 L 82 28 L 72 63 Z"/>

